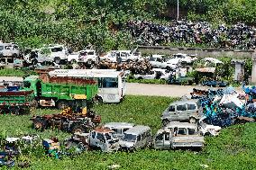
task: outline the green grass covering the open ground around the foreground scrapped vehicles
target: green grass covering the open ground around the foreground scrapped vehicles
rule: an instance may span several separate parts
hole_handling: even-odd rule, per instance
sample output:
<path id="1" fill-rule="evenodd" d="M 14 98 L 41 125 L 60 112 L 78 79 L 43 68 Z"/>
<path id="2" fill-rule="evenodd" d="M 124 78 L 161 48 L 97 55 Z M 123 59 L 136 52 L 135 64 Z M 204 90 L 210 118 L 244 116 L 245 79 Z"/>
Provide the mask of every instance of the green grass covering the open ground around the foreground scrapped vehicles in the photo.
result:
<path id="1" fill-rule="evenodd" d="M 120 104 L 95 107 L 103 122 L 129 121 L 151 126 L 153 133 L 160 128 L 160 114 L 174 99 L 168 97 L 127 96 Z M 57 110 L 38 110 L 37 114 L 57 113 Z M 15 134 L 38 133 L 32 130 L 30 116 L 1 115 L 1 137 Z M 58 130 L 39 133 L 41 138 L 70 136 Z M 78 157 L 57 160 L 46 157 L 41 150 L 25 156 L 32 161 L 29 169 L 108 169 L 117 164 L 119 169 L 256 169 L 256 124 L 236 125 L 222 130 L 217 138 L 207 138 L 200 152 L 187 150 L 154 150 L 146 148 L 134 153 L 85 152 Z M 202 165 L 207 165 L 204 168 Z M 16 169 L 17 167 L 14 167 Z"/>

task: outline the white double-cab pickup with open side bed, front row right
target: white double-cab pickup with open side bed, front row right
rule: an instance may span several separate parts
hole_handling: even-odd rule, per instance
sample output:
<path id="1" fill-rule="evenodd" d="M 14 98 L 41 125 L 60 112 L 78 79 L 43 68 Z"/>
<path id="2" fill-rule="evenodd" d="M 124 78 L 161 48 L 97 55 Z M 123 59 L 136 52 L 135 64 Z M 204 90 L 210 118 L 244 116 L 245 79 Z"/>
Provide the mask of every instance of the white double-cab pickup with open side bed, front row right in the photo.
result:
<path id="1" fill-rule="evenodd" d="M 172 121 L 164 129 L 158 130 L 153 139 L 153 148 L 203 148 L 204 137 L 199 135 L 197 125 Z"/>

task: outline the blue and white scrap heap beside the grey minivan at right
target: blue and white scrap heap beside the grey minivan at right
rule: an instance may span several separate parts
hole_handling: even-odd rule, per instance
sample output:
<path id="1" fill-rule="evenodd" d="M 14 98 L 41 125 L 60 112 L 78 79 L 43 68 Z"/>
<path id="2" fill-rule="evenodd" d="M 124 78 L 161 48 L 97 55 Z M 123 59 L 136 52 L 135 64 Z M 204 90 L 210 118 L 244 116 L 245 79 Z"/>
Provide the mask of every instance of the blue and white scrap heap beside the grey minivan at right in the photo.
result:
<path id="1" fill-rule="evenodd" d="M 191 95 L 200 98 L 203 115 L 209 124 L 226 127 L 234 123 L 251 122 L 256 118 L 255 105 L 242 102 L 233 87 L 214 93 L 194 89 Z"/>

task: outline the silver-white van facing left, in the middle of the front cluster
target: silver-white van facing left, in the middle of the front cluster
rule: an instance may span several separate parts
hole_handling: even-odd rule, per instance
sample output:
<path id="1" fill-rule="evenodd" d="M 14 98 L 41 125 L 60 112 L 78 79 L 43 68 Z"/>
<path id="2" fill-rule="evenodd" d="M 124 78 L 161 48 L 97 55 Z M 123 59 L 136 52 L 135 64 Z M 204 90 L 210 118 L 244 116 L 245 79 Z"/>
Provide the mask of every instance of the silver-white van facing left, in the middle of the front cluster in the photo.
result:
<path id="1" fill-rule="evenodd" d="M 145 148 L 151 146 L 151 128 L 137 125 L 124 132 L 120 147 L 125 150 Z"/>

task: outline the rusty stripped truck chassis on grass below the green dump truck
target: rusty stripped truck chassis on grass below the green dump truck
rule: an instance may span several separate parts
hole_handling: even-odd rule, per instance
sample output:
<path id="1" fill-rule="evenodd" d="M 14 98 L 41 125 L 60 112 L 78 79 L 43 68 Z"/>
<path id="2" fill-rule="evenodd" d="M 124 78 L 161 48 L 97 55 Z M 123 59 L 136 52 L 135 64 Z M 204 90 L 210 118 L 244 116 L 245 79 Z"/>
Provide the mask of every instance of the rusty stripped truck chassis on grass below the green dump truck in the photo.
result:
<path id="1" fill-rule="evenodd" d="M 31 120 L 32 127 L 36 130 L 57 128 L 69 132 L 88 132 L 101 122 L 101 117 L 86 109 L 81 113 L 74 113 L 70 108 L 67 108 L 59 114 L 34 116 Z"/>

